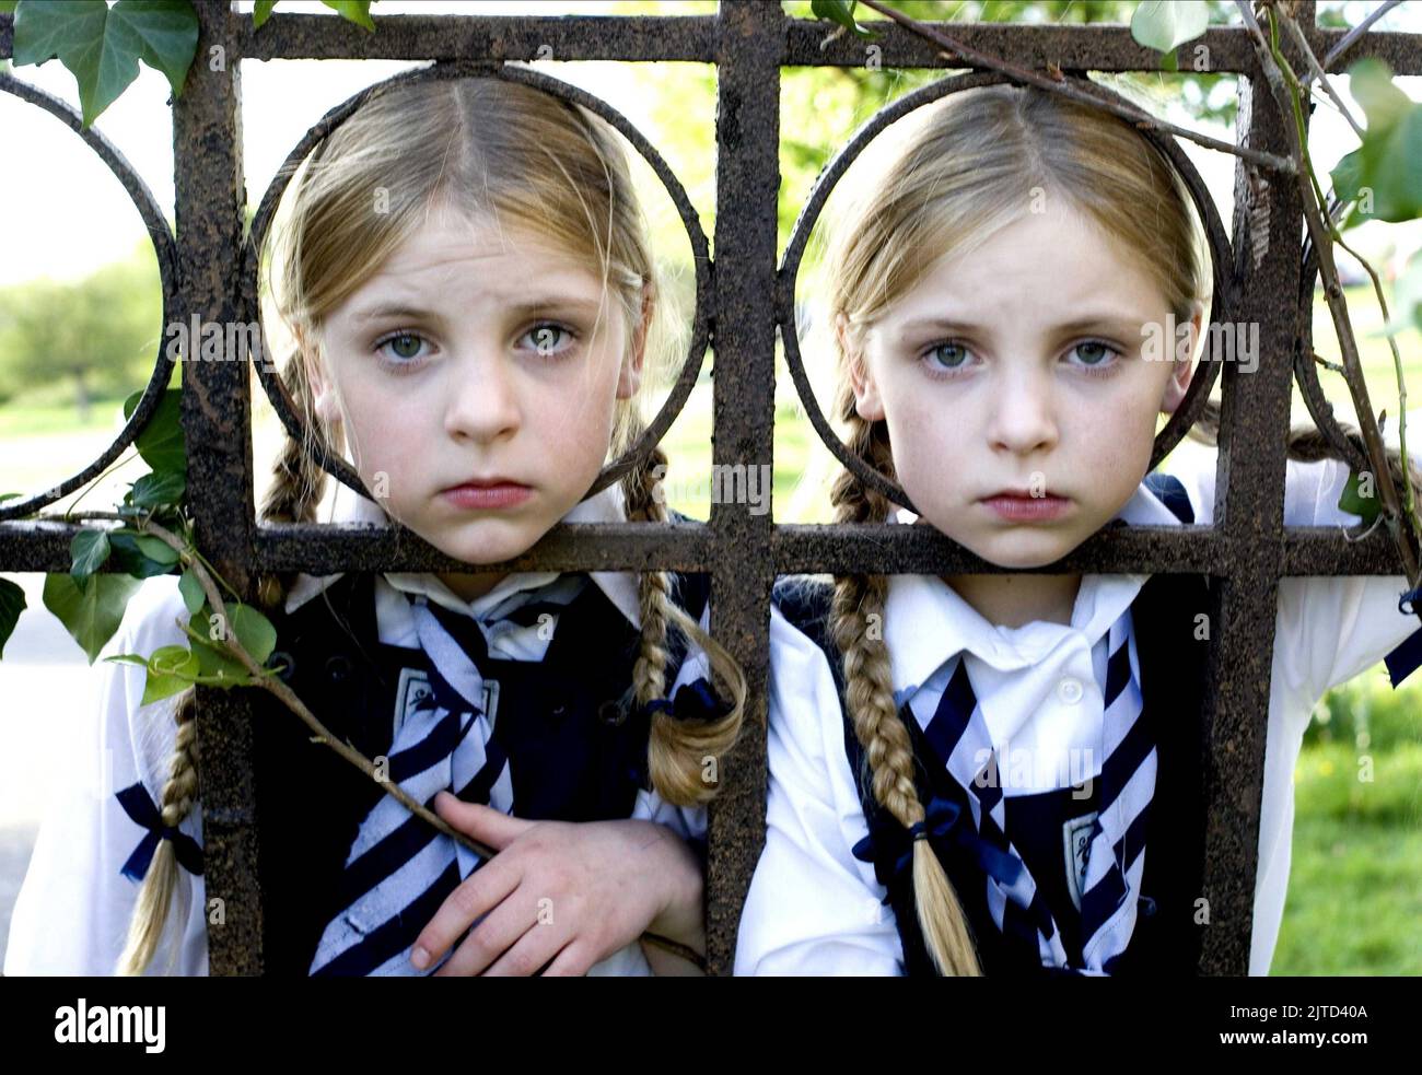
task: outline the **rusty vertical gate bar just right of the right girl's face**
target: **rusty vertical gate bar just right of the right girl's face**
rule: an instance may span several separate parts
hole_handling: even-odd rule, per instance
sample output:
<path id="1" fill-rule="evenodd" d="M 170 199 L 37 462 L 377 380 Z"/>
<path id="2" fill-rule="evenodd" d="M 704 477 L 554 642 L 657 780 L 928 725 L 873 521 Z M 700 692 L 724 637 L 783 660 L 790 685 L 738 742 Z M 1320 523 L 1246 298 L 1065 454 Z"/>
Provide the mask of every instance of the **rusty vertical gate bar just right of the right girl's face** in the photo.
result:
<path id="1" fill-rule="evenodd" d="M 1301 16 L 1308 21 L 1311 7 Z M 1240 80 L 1239 141 L 1287 155 L 1285 122 L 1293 117 L 1280 115 L 1261 77 Z M 1250 212 L 1260 198 L 1268 199 L 1267 216 Z M 1239 316 L 1244 324 L 1258 323 L 1260 355 L 1253 373 L 1230 364 L 1223 381 L 1214 518 L 1236 557 L 1212 589 L 1202 714 L 1207 818 L 1200 896 L 1209 910 L 1203 974 L 1249 973 L 1297 321 L 1297 307 L 1280 296 L 1298 293 L 1301 212 L 1293 183 L 1277 181 L 1261 189 L 1240 162 L 1233 242 Z M 1256 226 L 1268 229 L 1260 246 Z"/>

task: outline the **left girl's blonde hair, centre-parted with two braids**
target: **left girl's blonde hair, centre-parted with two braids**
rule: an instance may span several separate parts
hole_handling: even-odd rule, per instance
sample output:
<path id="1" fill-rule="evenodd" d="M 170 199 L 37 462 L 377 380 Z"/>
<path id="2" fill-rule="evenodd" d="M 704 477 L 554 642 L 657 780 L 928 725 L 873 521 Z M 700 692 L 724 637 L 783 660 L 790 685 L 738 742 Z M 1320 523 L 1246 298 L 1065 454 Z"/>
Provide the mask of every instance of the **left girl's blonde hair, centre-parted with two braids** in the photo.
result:
<path id="1" fill-rule="evenodd" d="M 388 205 L 383 208 L 388 212 L 374 212 L 377 192 L 385 193 Z M 492 215 L 522 226 L 594 267 L 627 321 L 629 346 L 637 346 L 644 301 L 657 293 L 657 272 L 627 161 L 611 128 L 579 105 L 489 77 L 391 88 L 361 105 L 313 152 L 280 229 L 282 246 L 273 239 L 279 229 L 270 229 L 272 256 L 264 260 L 270 274 L 272 262 L 282 255 L 274 290 L 283 319 L 309 351 L 319 351 L 323 319 L 424 223 L 438 202 L 471 218 Z M 306 368 L 311 360 L 319 354 L 297 351 L 283 371 L 307 431 L 320 424 Z M 611 454 L 624 452 L 643 429 L 637 401 L 619 401 Z M 327 434 L 321 429 L 323 438 Z M 310 444 L 303 448 L 286 439 L 262 505 L 263 520 L 314 519 L 326 475 L 311 455 Z M 621 478 L 629 520 L 667 520 L 658 492 L 665 464 L 657 448 Z M 263 604 L 279 607 L 290 582 L 290 576 L 263 579 Z M 720 758 L 735 742 L 745 675 L 670 599 L 665 572 L 641 574 L 638 604 L 641 644 L 624 707 L 646 705 L 665 694 L 673 630 L 705 653 L 712 684 L 731 705 L 725 715 L 705 721 L 660 711 L 651 715 L 647 761 L 654 789 L 678 806 L 704 803 L 717 791 L 702 778 L 705 761 Z M 159 803 L 165 825 L 176 825 L 196 801 L 193 707 L 193 691 L 179 697 L 178 741 Z M 172 845 L 161 840 L 134 911 L 121 974 L 139 974 L 152 960 L 176 879 Z"/>

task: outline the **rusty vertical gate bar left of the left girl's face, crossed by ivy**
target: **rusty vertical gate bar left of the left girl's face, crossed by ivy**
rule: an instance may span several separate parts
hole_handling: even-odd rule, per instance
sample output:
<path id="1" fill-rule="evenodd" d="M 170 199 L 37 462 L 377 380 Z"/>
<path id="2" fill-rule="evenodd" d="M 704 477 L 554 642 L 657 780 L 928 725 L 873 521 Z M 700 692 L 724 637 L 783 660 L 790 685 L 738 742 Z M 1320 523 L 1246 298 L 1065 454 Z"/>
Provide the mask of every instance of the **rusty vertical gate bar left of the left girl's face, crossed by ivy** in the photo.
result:
<path id="1" fill-rule="evenodd" d="M 198 55 L 229 48 L 228 4 L 195 6 Z M 230 48 L 229 48 L 230 55 Z M 242 263 L 240 73 L 235 63 L 212 71 L 195 63 L 173 102 L 173 185 L 182 266 L 181 317 L 236 319 Z M 188 363 L 182 425 L 188 442 L 188 488 L 198 547 L 232 587 L 253 597 L 252 422 L 243 363 Z M 199 688 L 198 739 L 203 815 L 205 882 L 209 900 L 223 902 L 223 923 L 209 926 L 212 974 L 262 973 L 262 900 L 253 825 L 250 691 Z"/>

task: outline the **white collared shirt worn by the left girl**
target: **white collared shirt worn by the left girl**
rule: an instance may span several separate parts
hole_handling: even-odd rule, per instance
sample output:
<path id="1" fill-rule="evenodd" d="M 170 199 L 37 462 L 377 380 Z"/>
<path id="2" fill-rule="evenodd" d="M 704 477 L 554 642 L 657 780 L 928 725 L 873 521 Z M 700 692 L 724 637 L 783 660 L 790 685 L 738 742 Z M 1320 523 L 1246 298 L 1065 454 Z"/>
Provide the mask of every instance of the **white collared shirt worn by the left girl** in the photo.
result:
<path id="1" fill-rule="evenodd" d="M 563 518 L 567 522 L 623 522 L 626 513 L 620 486 L 609 486 Z M 378 505 L 344 488 L 336 495 L 330 520 L 388 522 Z M 338 577 L 299 576 L 287 594 L 287 611 L 311 600 Z M 498 616 L 501 606 L 516 594 L 557 577 L 556 572 L 509 574 L 489 593 L 465 601 L 432 574 L 377 574 L 377 631 L 383 643 L 418 648 L 414 617 L 404 594 L 425 594 L 454 611 L 475 617 L 485 630 L 491 654 L 540 660 L 547 641 L 538 638 L 539 630 L 499 621 Z M 590 572 L 589 577 L 633 626 L 640 626 L 636 574 Z M 183 646 L 186 636 L 178 629 L 178 619 L 186 621 L 178 577 L 149 579 L 129 601 L 124 626 L 105 646 L 104 654 L 148 656 L 161 646 Z M 702 616 L 702 629 L 707 623 L 708 617 Z M 705 656 L 693 647 L 668 694 L 698 675 L 708 675 Z M 97 720 L 82 721 L 75 764 L 70 771 L 71 783 L 51 796 L 40 828 L 10 921 L 4 958 L 7 977 L 109 975 L 115 970 L 139 890 L 121 870 L 146 833 L 124 812 L 115 792 L 142 779 L 154 802 L 161 802 L 175 734 L 172 700 L 139 704 L 144 680 L 145 671 L 137 665 L 95 664 Z M 656 792 L 640 791 L 630 816 L 667 825 L 684 839 L 700 839 L 705 833 L 704 808 L 671 806 Z M 193 809 L 179 829 L 201 843 L 199 811 Z M 205 877 L 193 877 L 183 869 L 178 870 L 178 876 L 168 930 L 148 974 L 208 973 Z M 650 974 L 651 968 L 640 944 L 633 943 L 589 973 Z"/>

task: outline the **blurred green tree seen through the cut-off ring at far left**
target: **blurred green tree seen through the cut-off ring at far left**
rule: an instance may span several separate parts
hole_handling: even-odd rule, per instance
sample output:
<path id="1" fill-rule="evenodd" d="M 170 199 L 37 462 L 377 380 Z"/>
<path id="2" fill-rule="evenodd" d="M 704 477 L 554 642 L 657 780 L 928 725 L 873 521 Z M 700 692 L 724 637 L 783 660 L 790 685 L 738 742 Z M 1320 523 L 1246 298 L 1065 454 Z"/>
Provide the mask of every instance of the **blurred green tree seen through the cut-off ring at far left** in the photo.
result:
<path id="1" fill-rule="evenodd" d="M 148 381 L 162 340 L 152 246 L 81 280 L 28 280 L 0 290 L 0 401 L 68 380 L 80 419 L 90 400 Z"/>

